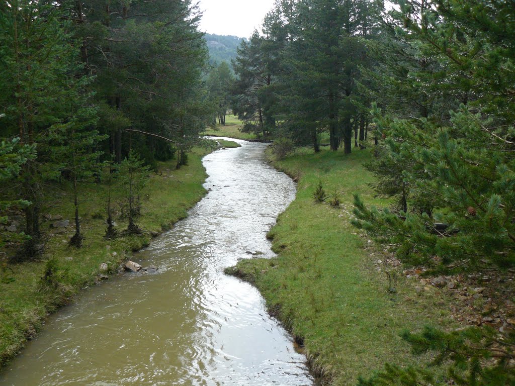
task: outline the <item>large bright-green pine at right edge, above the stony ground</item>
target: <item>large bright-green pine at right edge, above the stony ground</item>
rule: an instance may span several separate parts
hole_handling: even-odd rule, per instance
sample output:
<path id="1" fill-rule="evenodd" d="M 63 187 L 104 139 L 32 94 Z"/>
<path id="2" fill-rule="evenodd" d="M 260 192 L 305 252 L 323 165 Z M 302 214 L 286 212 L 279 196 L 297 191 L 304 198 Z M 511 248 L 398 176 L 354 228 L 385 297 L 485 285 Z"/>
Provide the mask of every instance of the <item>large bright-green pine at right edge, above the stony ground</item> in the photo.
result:
<path id="1" fill-rule="evenodd" d="M 453 89 L 456 103 L 464 95 L 468 103 L 451 112 L 449 120 L 396 120 L 376 110 L 388 157 L 404 166 L 397 168 L 397 183 L 408 188 L 407 212 L 368 209 L 360 200 L 355 211 L 356 224 L 380 239 L 394 240 L 406 262 L 437 264 L 443 270 L 515 263 L 515 164 L 510 155 L 515 133 L 505 82 L 515 68 L 513 51 L 506 48 L 510 43 L 493 22 L 495 15 L 503 18 L 515 11 L 500 3 L 465 3 L 424 2 L 418 13 L 413 4 L 403 6 L 403 25 L 410 40 L 418 42 L 420 55 L 445 68 L 441 79 L 433 80 L 435 90 Z M 507 17 L 508 37 L 512 24 Z M 485 71 L 488 66 L 499 72 Z M 467 75 L 456 77 L 461 73 Z M 379 172 L 386 176 L 387 171 Z"/>

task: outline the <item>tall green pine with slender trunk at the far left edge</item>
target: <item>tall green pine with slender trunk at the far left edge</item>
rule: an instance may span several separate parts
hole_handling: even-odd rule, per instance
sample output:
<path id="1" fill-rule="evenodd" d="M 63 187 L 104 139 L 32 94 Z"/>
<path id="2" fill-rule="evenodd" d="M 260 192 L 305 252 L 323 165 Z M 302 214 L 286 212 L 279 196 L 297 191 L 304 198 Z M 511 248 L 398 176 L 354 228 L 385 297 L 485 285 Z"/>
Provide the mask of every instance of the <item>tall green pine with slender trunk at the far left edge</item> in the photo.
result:
<path id="1" fill-rule="evenodd" d="M 0 105 L 5 107 L 4 136 L 18 135 L 22 145 L 35 147 L 37 160 L 28 160 L 20 180 L 25 208 L 26 234 L 30 240 L 23 254 L 36 255 L 42 182 L 59 177 L 52 156 L 56 125 L 74 116 L 63 101 L 79 93 L 78 50 L 71 44 L 67 10 L 53 2 L 12 0 L 0 12 Z M 80 77 L 79 77 L 80 78 Z"/>

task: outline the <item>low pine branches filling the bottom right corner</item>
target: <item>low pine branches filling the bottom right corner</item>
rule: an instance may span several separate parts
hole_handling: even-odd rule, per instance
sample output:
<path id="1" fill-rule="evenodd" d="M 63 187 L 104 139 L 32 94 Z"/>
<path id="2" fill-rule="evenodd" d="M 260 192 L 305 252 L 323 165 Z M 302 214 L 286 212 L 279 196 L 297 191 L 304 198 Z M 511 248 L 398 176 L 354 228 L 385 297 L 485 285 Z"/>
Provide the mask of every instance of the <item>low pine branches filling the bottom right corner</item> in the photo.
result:
<path id="1" fill-rule="evenodd" d="M 492 328 L 468 327 L 460 331 L 443 332 L 425 327 L 420 334 L 403 332 L 413 354 L 431 353 L 432 366 L 427 369 L 402 368 L 387 364 L 385 369 L 369 379 L 359 379 L 359 386 L 429 386 L 456 384 L 459 386 L 513 386 L 515 368 L 513 344 L 515 334 L 499 334 Z M 443 376 L 434 372 L 443 365 Z M 432 369 L 433 367 L 433 369 Z"/>

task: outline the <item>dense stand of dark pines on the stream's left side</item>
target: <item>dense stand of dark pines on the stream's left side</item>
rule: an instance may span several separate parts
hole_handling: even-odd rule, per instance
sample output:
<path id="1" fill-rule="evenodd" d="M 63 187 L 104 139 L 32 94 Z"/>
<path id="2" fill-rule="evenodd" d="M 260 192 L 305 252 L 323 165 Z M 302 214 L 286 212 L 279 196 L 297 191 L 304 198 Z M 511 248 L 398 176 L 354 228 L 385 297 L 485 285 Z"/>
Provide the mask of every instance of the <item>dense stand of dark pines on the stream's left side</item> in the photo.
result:
<path id="1" fill-rule="evenodd" d="M 49 182 L 73 183 L 80 247 L 82 182 L 109 169 L 133 191 L 133 174 L 156 161 L 187 162 L 214 113 L 199 17 L 189 1 L 0 3 L 2 136 L 14 138 L 2 145 L 3 209 L 25 211 L 19 260 L 39 253 Z"/>

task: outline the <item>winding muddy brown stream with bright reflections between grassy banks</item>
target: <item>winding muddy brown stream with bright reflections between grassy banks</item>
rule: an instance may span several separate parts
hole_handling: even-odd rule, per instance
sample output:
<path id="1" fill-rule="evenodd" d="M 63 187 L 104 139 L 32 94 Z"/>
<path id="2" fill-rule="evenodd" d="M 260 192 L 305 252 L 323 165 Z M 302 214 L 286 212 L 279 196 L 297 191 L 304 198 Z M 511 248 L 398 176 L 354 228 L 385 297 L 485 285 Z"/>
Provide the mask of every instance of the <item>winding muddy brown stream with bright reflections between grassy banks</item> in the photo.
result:
<path id="1" fill-rule="evenodd" d="M 252 253 L 295 186 L 264 144 L 204 158 L 209 194 L 135 256 L 156 274 L 124 274 L 50 318 L 3 385 L 311 385 L 305 358 L 259 292 L 222 270 Z"/>

